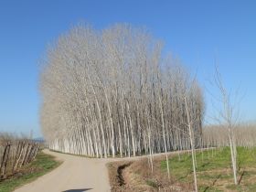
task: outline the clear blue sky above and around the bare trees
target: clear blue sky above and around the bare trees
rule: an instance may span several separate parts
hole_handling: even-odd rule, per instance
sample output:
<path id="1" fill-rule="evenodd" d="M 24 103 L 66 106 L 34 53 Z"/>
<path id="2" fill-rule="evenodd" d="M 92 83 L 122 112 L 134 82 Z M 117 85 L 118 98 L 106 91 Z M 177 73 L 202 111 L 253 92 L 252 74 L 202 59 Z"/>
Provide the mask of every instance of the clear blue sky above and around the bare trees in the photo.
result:
<path id="1" fill-rule="evenodd" d="M 242 118 L 256 120 L 256 1 L 1 0 L 0 132 L 41 135 L 38 61 L 48 44 L 80 22 L 147 27 L 203 86 L 217 60 L 226 86 L 245 92 Z"/>

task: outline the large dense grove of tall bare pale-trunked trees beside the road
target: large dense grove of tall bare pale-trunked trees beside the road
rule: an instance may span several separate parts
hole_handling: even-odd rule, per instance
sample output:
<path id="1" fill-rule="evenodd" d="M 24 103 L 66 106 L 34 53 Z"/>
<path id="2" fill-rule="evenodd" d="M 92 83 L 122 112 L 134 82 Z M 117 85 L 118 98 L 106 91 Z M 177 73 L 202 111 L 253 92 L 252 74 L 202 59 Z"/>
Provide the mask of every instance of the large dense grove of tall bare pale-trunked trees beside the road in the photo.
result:
<path id="1" fill-rule="evenodd" d="M 40 76 L 49 148 L 96 157 L 197 148 L 201 89 L 163 52 L 160 41 L 129 25 L 78 26 L 59 37 Z"/>

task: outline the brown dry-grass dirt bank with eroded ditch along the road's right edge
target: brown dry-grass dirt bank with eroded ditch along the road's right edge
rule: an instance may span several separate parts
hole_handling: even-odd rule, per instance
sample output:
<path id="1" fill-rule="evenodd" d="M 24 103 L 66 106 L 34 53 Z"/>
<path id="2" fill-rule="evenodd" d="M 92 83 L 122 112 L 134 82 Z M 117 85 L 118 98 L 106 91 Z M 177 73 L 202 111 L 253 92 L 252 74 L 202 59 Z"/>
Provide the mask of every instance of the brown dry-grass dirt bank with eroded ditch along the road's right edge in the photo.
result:
<path id="1" fill-rule="evenodd" d="M 184 186 L 168 178 L 160 167 L 162 157 L 154 159 L 154 170 L 151 171 L 148 158 L 135 161 L 119 161 L 109 163 L 109 177 L 112 192 L 131 191 L 193 191 L 189 184 Z"/>

